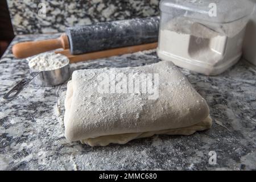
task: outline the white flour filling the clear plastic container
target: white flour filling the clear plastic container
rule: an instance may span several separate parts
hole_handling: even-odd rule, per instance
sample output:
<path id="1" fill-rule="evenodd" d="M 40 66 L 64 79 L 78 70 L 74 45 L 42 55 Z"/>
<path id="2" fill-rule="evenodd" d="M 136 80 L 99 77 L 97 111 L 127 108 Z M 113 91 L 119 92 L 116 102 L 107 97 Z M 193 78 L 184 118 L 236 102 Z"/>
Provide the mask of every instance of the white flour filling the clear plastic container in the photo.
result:
<path id="1" fill-rule="evenodd" d="M 217 75 L 240 58 L 245 22 L 241 19 L 213 27 L 174 18 L 160 29 L 158 56 L 192 71 Z"/>

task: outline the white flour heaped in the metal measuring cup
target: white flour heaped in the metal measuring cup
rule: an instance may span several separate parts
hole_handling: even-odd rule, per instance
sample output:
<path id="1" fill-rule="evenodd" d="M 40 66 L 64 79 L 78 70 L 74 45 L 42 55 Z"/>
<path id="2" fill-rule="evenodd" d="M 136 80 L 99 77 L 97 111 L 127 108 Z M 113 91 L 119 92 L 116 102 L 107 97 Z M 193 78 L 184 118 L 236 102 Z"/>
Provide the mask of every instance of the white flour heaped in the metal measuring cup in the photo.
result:
<path id="1" fill-rule="evenodd" d="M 60 53 L 42 53 L 28 62 L 28 66 L 31 69 L 37 71 L 51 71 L 64 67 L 69 63 L 67 56 L 61 55 Z"/>

